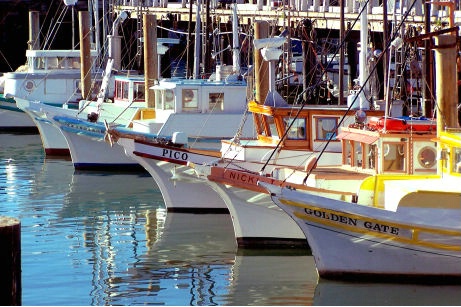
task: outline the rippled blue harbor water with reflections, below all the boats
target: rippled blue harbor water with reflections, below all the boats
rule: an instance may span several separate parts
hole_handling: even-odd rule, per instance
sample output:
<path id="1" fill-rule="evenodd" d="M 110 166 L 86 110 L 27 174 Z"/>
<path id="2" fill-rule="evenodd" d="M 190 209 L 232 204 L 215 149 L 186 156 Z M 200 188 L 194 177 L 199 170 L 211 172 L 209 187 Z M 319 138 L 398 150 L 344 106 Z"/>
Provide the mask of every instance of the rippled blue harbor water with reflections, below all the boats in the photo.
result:
<path id="1" fill-rule="evenodd" d="M 237 249 L 229 215 L 167 213 L 147 173 L 75 172 L 39 135 L 0 134 L 0 204 L 23 305 L 461 305 L 461 285 L 319 280 L 309 251 Z"/>

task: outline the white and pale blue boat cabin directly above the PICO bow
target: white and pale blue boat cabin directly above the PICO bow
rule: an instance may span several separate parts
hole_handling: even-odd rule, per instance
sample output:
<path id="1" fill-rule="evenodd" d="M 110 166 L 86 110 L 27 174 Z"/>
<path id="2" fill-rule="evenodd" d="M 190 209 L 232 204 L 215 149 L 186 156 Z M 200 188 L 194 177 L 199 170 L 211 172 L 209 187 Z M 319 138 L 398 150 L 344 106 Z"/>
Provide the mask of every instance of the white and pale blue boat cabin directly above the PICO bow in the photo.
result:
<path id="1" fill-rule="evenodd" d="M 175 132 L 201 138 L 231 137 L 246 110 L 247 85 L 244 80 L 229 77 L 160 80 L 151 87 L 155 105 L 150 110 L 155 116 L 134 119 L 133 130 L 162 137 Z M 252 121 L 245 124 L 242 135 L 253 135 Z"/>

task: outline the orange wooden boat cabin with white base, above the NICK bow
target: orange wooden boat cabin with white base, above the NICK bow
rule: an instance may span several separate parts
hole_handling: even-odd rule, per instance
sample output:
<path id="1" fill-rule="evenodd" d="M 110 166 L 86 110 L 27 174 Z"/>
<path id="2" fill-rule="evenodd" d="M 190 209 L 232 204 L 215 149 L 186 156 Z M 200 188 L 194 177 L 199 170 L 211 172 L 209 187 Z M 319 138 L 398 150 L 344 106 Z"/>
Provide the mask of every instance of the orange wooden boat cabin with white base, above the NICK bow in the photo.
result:
<path id="1" fill-rule="evenodd" d="M 273 159 L 273 163 L 299 166 L 305 162 L 306 155 L 319 153 L 327 146 L 319 165 L 339 165 L 341 142 L 336 138 L 337 129 L 356 120 L 355 111 L 344 105 L 305 105 L 301 108 L 287 103 L 270 106 L 251 101 L 248 110 L 253 113 L 257 138 L 242 139 L 239 143 L 222 140 L 223 158 L 238 161 Z M 383 111 L 367 111 L 367 116 L 383 114 Z M 277 145 L 280 150 L 274 155 Z"/>

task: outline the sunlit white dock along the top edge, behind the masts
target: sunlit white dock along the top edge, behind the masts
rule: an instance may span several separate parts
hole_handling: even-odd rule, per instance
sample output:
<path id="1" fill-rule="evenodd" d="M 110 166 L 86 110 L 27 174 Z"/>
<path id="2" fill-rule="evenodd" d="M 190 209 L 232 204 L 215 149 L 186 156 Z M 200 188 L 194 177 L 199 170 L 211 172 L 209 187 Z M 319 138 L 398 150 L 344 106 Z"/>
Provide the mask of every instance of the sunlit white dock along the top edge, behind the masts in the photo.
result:
<path id="1" fill-rule="evenodd" d="M 227 1 L 226 1 L 227 2 Z M 230 2 L 230 1 L 229 1 Z M 260 1 L 260 3 L 243 3 L 237 0 L 237 7 L 239 12 L 239 23 L 243 26 L 251 25 L 255 20 L 266 20 L 271 25 L 284 27 L 294 27 L 296 24 L 304 19 L 311 19 L 315 21 L 315 28 L 317 30 L 339 30 L 341 20 L 341 1 L 331 0 L 291 0 L 274 1 L 271 0 Z M 259 2 L 259 1 L 258 1 Z M 220 23 L 227 23 L 229 16 L 232 15 L 229 4 L 224 4 L 218 1 L 208 1 L 210 10 L 212 11 L 213 18 Z M 330 4 L 334 3 L 334 4 Z M 387 4 L 387 3 L 386 3 Z M 204 6 L 206 4 L 204 3 Z M 405 21 L 407 25 L 416 27 L 424 27 L 426 20 L 426 10 L 428 8 L 429 23 L 431 24 L 431 31 L 439 30 L 444 25 L 450 23 L 449 16 L 450 10 L 453 10 L 454 23 L 461 23 L 461 10 L 459 4 L 454 1 L 438 1 L 438 2 L 423 2 L 422 0 L 404 1 L 404 7 L 401 9 L 399 1 L 396 1 L 394 6 L 389 2 L 384 6 L 384 3 L 379 4 L 378 0 L 368 1 L 368 29 L 371 32 L 382 33 L 384 29 L 384 11 L 387 11 L 387 20 L 392 21 L 392 16 L 395 10 L 396 14 L 406 14 L 410 8 L 410 12 Z M 190 18 L 190 3 L 183 2 L 168 2 L 155 1 L 155 0 L 119 0 L 114 1 L 115 11 L 129 11 L 132 18 L 138 18 L 140 14 L 155 14 L 157 20 L 165 19 L 167 14 L 172 14 L 177 18 L 177 21 L 189 22 Z M 195 4 L 192 8 L 192 21 L 195 20 Z M 348 26 L 353 31 L 360 31 L 360 23 L 355 23 L 354 20 L 358 18 L 360 12 L 359 1 L 346 1 L 344 5 L 344 23 L 346 29 Z M 428 31 L 430 32 L 430 31 Z"/>

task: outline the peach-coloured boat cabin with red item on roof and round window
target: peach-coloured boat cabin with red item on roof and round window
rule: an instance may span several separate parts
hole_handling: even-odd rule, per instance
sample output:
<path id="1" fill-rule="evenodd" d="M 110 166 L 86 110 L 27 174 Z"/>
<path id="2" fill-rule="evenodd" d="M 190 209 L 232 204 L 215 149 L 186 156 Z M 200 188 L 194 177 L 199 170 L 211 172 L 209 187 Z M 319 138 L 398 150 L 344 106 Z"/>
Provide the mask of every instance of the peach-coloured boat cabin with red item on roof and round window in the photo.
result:
<path id="1" fill-rule="evenodd" d="M 437 170 L 435 137 L 435 120 L 375 117 L 362 127 L 342 127 L 337 139 L 344 167 L 372 175 L 422 175 Z"/>

